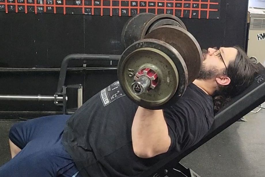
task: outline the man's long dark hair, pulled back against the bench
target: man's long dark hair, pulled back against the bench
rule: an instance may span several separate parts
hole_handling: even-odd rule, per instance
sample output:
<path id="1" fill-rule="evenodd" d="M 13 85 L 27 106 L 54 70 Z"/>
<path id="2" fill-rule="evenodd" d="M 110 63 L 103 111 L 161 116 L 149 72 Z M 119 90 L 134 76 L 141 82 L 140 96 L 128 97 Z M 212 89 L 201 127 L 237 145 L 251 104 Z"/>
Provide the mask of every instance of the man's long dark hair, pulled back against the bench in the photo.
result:
<path id="1" fill-rule="evenodd" d="M 236 59 L 229 63 L 224 72 L 231 79 L 231 82 L 229 85 L 220 87 L 213 94 L 215 113 L 226 105 L 232 97 L 240 94 L 251 85 L 255 74 L 258 72 L 256 65 L 251 62 L 245 51 L 238 46 L 234 46 L 234 48 L 238 51 Z"/>

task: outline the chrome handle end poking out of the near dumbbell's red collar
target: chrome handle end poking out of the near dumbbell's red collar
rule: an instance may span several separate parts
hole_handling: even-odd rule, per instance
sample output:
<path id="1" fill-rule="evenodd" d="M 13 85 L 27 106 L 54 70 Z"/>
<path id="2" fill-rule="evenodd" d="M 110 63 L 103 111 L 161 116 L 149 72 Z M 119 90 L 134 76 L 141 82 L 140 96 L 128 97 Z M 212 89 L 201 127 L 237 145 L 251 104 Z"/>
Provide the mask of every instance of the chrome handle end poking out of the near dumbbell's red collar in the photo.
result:
<path id="1" fill-rule="evenodd" d="M 140 95 L 146 92 L 150 85 L 150 79 L 147 76 L 141 76 L 132 84 L 132 91 L 134 94 Z"/>

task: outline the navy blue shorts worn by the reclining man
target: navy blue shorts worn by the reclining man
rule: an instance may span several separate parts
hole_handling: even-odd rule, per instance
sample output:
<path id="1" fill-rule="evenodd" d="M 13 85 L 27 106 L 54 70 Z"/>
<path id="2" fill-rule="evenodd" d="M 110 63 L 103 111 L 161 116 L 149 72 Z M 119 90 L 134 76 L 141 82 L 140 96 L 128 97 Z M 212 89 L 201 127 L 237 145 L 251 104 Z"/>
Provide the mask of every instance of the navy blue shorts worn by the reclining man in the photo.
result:
<path id="1" fill-rule="evenodd" d="M 14 124 L 10 140 L 22 149 L 0 167 L 5 177 L 81 177 L 62 144 L 69 115 L 52 115 Z"/>

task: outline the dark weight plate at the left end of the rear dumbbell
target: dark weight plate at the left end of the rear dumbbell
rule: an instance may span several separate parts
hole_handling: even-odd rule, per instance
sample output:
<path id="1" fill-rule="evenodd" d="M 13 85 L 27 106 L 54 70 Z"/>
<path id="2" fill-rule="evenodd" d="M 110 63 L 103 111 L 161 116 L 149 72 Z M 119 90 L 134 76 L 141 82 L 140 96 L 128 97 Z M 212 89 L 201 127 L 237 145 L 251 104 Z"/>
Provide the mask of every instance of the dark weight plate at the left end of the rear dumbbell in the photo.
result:
<path id="1" fill-rule="evenodd" d="M 130 18 L 122 29 L 122 43 L 127 48 L 134 42 L 141 39 L 141 34 L 145 23 L 152 19 L 155 14 L 152 13 L 140 13 Z"/>

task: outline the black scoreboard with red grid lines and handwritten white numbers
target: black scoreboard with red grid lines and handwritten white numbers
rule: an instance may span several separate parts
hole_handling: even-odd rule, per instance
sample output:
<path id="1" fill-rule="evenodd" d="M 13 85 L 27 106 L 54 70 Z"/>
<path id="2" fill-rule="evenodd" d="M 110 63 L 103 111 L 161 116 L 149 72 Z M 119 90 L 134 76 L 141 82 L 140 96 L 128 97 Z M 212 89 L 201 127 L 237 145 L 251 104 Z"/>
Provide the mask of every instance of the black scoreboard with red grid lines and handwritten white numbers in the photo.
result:
<path id="1" fill-rule="evenodd" d="M 220 17 L 221 0 L 0 0 L 0 12 L 133 16 L 141 12 L 180 18 Z"/>

